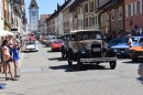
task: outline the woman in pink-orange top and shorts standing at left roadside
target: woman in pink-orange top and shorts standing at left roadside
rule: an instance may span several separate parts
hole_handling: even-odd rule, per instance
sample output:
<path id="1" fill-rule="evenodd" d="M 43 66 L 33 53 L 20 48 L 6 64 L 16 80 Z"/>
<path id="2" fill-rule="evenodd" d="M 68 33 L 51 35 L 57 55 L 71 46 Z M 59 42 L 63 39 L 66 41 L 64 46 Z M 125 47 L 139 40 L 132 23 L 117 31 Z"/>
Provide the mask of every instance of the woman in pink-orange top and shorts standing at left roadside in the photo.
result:
<path id="1" fill-rule="evenodd" d="M 9 80 L 11 80 L 11 81 L 18 81 L 16 78 L 14 78 L 14 76 L 12 74 L 12 67 L 11 67 L 12 56 L 10 55 L 8 45 L 9 45 L 9 41 L 4 40 L 3 43 L 2 43 L 2 55 L 3 55 L 3 61 L 4 61 L 6 81 L 9 81 Z M 8 71 L 7 70 L 9 70 L 11 78 L 8 77 Z"/>

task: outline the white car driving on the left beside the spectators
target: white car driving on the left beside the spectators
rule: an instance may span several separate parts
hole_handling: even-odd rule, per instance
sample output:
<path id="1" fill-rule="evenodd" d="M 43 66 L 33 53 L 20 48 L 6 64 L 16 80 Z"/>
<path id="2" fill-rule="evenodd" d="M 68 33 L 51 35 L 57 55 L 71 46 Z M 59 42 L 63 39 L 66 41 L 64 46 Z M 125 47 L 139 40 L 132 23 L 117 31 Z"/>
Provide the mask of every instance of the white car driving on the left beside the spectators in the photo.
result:
<path id="1" fill-rule="evenodd" d="M 28 42 L 23 46 L 24 52 L 35 51 L 38 52 L 38 44 L 36 42 Z"/>

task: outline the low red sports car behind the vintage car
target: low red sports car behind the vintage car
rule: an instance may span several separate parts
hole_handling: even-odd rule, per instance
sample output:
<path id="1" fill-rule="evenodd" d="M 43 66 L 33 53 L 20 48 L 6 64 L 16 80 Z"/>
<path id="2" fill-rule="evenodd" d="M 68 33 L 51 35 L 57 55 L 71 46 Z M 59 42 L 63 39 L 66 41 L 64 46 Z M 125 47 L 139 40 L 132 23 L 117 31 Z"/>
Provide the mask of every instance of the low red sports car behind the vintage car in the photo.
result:
<path id="1" fill-rule="evenodd" d="M 63 41 L 61 41 L 61 40 L 53 41 L 52 45 L 51 45 L 52 51 L 61 50 L 62 45 L 63 45 Z"/>

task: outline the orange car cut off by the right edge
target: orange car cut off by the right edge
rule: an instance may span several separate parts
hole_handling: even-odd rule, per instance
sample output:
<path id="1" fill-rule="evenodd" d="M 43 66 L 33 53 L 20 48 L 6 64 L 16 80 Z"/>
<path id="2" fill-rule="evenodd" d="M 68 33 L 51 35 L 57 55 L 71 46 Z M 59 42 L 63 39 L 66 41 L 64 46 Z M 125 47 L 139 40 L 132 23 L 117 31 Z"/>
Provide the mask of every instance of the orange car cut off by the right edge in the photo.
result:
<path id="1" fill-rule="evenodd" d="M 139 46 L 132 46 L 129 49 L 130 56 L 133 62 L 138 62 L 139 60 L 143 60 L 143 39 L 141 40 Z"/>

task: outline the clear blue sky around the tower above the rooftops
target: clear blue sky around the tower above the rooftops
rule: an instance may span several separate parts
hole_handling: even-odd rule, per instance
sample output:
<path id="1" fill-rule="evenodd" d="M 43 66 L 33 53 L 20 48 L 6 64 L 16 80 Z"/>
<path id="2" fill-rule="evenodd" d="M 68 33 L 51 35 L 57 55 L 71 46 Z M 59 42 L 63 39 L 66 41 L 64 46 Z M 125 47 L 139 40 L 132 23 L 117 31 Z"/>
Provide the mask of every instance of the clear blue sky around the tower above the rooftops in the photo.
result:
<path id="1" fill-rule="evenodd" d="M 57 7 L 57 2 L 63 4 L 65 0 L 36 0 L 38 6 L 38 14 L 52 14 Z M 29 21 L 29 6 L 31 0 L 25 0 L 26 18 Z"/>

